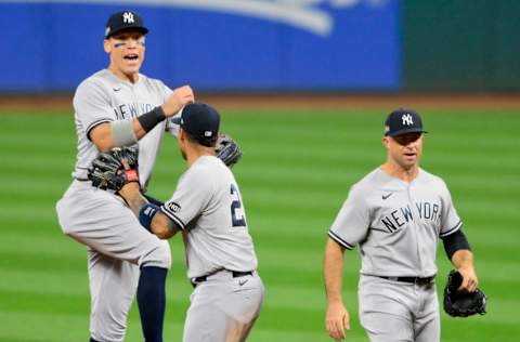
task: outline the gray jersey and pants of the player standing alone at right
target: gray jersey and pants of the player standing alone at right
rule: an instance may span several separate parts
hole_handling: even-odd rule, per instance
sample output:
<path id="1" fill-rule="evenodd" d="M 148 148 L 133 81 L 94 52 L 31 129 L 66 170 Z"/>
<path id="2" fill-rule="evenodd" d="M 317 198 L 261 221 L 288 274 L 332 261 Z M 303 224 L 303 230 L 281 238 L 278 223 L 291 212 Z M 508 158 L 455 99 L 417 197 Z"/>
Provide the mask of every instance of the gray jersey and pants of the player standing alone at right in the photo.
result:
<path id="1" fill-rule="evenodd" d="M 352 186 L 328 235 L 360 245 L 360 320 L 370 341 L 439 341 L 434 282 L 396 277 L 434 276 L 439 238 L 460 226 L 446 185 L 422 169 L 411 183 L 376 169 Z"/>

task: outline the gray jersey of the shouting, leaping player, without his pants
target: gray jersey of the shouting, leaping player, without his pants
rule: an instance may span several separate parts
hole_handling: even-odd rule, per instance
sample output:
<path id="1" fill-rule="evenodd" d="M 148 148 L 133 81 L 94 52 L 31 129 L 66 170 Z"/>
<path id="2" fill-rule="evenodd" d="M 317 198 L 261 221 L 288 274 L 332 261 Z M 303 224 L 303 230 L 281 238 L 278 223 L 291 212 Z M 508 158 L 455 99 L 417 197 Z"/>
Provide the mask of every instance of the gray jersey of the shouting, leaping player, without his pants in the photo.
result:
<path id="1" fill-rule="evenodd" d="M 78 156 L 73 176 L 87 179 L 87 169 L 99 150 L 89 139 L 90 131 L 100 123 L 128 120 L 162 105 L 171 90 L 161 81 L 139 75 L 132 84 L 103 69 L 79 84 L 74 96 Z M 173 123 L 162 121 L 139 141 L 140 183 L 147 184 L 165 130 L 177 132 Z"/>

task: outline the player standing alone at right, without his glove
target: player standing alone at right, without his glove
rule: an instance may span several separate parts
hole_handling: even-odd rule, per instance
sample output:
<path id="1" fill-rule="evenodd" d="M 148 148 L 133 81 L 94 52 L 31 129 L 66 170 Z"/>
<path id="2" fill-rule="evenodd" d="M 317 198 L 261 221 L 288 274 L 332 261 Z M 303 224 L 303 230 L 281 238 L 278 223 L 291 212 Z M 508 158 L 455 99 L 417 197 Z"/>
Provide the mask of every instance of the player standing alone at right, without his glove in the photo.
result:
<path id="1" fill-rule="evenodd" d="M 370 341 L 440 341 L 439 239 L 464 277 L 461 291 L 477 289 L 472 253 L 444 181 L 419 168 L 419 115 L 398 109 L 385 126 L 387 161 L 352 186 L 328 232 L 326 329 L 336 341 L 350 329 L 341 295 L 343 252 L 360 245 L 360 319 Z"/>

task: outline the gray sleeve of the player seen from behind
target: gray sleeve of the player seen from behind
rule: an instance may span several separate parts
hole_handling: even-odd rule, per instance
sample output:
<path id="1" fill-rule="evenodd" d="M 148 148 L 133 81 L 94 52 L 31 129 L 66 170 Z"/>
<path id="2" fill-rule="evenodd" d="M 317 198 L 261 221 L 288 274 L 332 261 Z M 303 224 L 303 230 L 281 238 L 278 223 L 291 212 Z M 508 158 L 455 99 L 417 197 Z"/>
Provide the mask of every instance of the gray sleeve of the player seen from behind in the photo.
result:
<path id="1" fill-rule="evenodd" d="M 203 170 L 187 170 L 173 196 L 160 210 L 184 231 L 186 225 L 207 207 L 213 193 L 209 174 Z"/>

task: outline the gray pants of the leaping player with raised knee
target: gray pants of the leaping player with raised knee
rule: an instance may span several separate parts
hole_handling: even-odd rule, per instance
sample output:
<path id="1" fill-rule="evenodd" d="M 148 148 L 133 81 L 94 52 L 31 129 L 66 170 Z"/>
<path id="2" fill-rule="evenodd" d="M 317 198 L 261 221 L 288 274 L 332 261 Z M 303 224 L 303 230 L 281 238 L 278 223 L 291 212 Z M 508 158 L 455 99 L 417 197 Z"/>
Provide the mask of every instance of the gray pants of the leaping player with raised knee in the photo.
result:
<path id="1" fill-rule="evenodd" d="M 168 242 L 143 228 L 119 196 L 90 182 L 74 181 L 56 211 L 62 231 L 87 246 L 91 337 L 122 341 L 140 266 L 170 268 Z"/>

